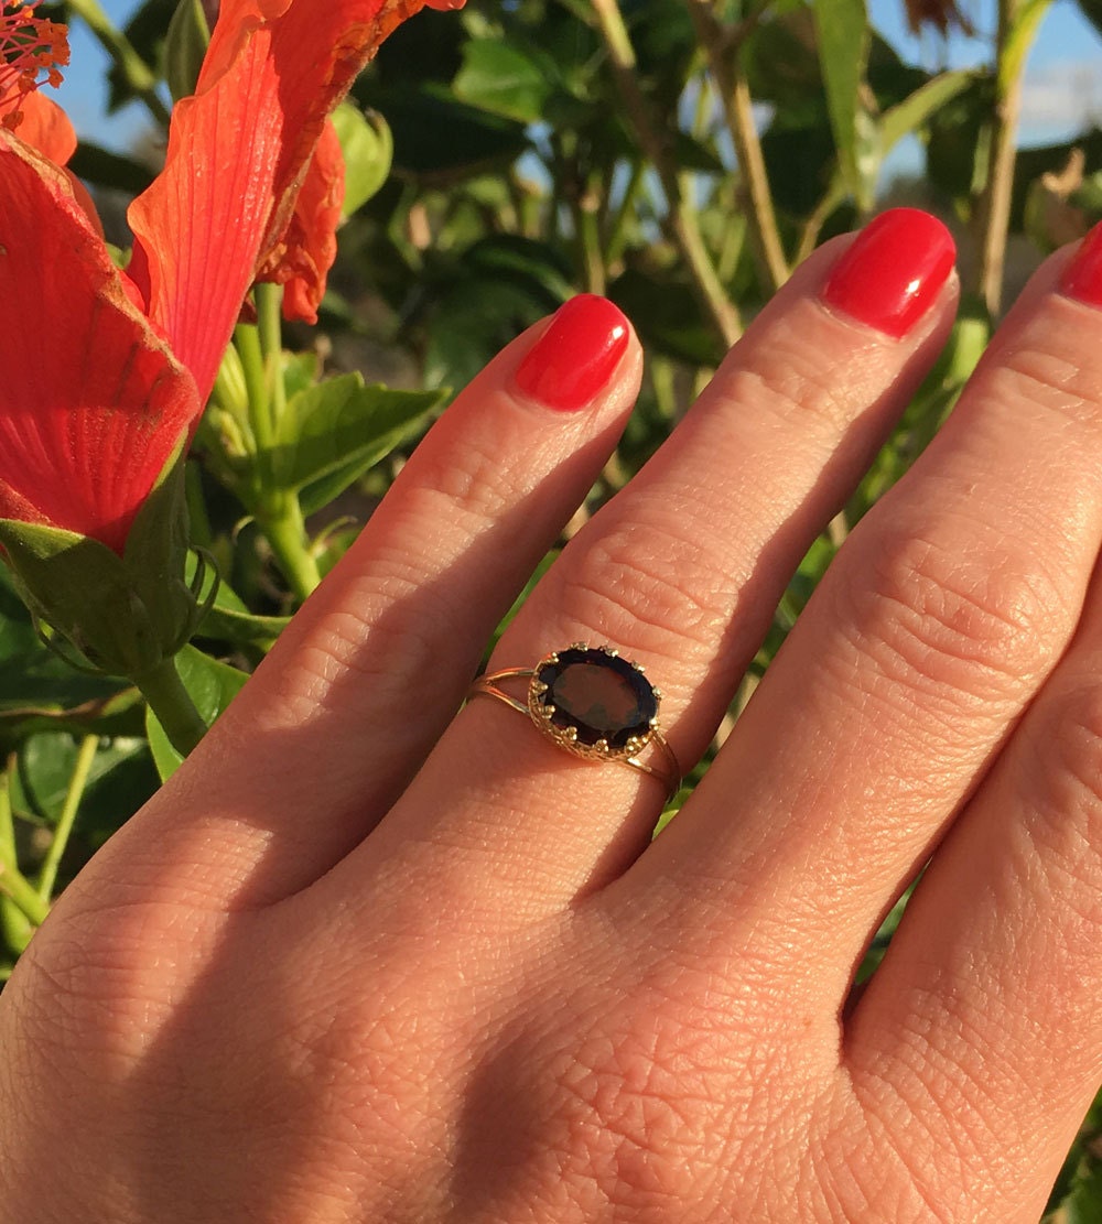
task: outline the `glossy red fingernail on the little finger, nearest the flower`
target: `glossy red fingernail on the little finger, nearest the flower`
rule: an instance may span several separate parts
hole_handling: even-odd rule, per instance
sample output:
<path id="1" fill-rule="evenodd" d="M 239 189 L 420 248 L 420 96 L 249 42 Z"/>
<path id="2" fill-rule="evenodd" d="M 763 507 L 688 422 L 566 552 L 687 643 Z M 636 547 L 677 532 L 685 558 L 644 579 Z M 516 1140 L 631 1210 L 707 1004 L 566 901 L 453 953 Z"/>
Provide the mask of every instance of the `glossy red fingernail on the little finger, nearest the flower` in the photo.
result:
<path id="1" fill-rule="evenodd" d="M 580 294 L 560 306 L 513 382 L 547 408 L 575 412 L 609 382 L 627 345 L 628 321 L 612 302 Z"/>

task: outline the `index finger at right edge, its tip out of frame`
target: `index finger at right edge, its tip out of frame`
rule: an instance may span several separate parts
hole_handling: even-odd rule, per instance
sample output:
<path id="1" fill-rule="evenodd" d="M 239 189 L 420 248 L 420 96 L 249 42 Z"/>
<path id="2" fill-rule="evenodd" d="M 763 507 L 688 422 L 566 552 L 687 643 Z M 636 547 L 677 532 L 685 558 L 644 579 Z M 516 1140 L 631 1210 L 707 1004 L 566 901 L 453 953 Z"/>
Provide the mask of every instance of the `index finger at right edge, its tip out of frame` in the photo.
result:
<path id="1" fill-rule="evenodd" d="M 975 1196 L 958 1218 L 1040 1219 L 1102 1083 L 1100 677 L 1096 579 L 1086 624 L 938 847 L 847 1026 L 867 1105 L 898 1130 L 918 1110 L 956 1154 Z"/>

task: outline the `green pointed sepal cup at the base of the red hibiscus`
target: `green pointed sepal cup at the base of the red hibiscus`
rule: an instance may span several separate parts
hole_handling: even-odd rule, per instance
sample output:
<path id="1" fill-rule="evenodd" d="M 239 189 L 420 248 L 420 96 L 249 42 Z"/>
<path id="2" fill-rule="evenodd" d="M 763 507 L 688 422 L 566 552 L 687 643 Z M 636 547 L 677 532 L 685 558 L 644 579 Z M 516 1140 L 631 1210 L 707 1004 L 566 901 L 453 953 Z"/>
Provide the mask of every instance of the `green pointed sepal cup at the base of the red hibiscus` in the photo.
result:
<path id="1" fill-rule="evenodd" d="M 89 536 L 13 519 L 0 519 L 0 546 L 39 629 L 48 627 L 111 676 L 136 678 L 175 655 L 206 611 L 200 601 L 206 567 L 191 583 L 185 577 L 179 452 L 138 510 L 121 557 Z"/>

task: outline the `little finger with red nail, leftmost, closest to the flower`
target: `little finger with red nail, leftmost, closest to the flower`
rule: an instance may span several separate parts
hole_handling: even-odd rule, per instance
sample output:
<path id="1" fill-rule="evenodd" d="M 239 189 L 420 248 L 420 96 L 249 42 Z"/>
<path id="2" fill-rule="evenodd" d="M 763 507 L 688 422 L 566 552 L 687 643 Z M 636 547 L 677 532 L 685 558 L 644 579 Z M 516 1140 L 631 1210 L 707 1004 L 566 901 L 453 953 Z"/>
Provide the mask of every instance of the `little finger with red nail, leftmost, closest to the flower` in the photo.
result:
<path id="1" fill-rule="evenodd" d="M 459 706 L 486 639 L 607 460 L 640 355 L 577 297 L 455 400 L 355 545 L 114 853 L 220 905 L 359 841 Z M 135 848 L 136 847 L 136 848 Z"/>

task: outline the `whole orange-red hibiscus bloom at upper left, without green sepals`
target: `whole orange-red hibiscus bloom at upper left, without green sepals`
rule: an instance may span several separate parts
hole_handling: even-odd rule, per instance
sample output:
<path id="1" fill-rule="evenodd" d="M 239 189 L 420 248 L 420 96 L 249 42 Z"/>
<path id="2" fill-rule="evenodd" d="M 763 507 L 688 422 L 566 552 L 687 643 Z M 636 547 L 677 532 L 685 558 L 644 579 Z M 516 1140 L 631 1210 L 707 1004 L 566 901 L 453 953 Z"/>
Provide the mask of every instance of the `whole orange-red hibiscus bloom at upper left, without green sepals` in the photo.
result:
<path id="1" fill-rule="evenodd" d="M 291 308 L 312 316 L 333 241 L 317 219 L 335 223 L 340 203 L 327 116 L 425 2 L 224 0 L 196 93 L 173 113 L 164 169 L 131 204 L 126 272 L 60 168 L 72 152 L 61 125 L 32 111 L 32 82 L 51 69 L 42 44 L 11 39 L 33 13 L 5 4 L 0 97 L 22 124 L 0 126 L 0 301 L 20 319 L 0 328 L 0 518 L 121 553 L 202 411 L 253 280 L 287 282 Z"/>

